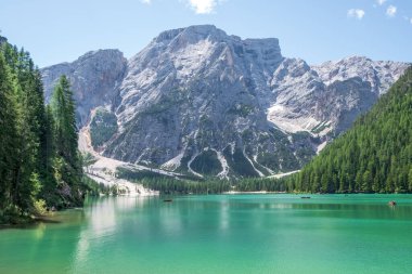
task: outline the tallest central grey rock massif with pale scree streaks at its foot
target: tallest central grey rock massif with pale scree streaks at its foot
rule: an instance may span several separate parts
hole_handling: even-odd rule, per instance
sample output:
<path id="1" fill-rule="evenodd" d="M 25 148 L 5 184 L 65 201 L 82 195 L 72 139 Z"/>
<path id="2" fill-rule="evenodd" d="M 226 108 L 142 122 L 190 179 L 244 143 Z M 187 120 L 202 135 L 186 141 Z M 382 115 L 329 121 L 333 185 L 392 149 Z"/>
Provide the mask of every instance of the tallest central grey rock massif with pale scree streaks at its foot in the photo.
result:
<path id="1" fill-rule="evenodd" d="M 104 153 L 196 173 L 218 162 L 222 177 L 269 174 L 283 157 L 298 168 L 287 135 L 266 119 L 267 81 L 282 60 L 276 39 L 242 40 L 214 26 L 160 34 L 128 63 L 120 130 Z"/>

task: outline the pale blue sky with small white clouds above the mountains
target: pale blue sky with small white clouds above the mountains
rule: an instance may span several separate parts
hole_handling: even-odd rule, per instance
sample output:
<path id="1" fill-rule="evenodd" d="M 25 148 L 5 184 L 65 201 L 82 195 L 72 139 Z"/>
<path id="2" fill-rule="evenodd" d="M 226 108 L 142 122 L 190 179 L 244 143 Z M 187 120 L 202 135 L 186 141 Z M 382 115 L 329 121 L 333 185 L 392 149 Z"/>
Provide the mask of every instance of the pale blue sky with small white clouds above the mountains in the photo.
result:
<path id="1" fill-rule="evenodd" d="M 411 0 L 0 0 L 1 35 L 40 67 L 96 49 L 130 57 L 163 30 L 198 24 L 279 38 L 284 56 L 309 64 L 412 62 Z"/>

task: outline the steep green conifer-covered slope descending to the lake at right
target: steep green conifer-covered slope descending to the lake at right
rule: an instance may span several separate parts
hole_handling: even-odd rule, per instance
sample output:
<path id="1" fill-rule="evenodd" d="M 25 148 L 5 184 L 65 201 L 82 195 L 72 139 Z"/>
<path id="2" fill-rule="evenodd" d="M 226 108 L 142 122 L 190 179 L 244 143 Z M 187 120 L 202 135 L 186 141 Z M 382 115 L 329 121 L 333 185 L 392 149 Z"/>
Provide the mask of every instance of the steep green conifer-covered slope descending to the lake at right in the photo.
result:
<path id="1" fill-rule="evenodd" d="M 412 192 L 412 67 L 294 178 L 305 192 Z"/>

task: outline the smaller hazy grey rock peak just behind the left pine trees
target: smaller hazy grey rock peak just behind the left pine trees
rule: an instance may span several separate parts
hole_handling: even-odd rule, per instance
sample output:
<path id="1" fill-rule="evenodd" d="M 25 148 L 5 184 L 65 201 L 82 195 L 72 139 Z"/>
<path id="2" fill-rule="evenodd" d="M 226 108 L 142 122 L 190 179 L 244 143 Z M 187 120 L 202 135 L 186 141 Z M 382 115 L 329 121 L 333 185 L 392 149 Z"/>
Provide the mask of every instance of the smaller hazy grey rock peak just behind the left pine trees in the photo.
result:
<path id="1" fill-rule="evenodd" d="M 96 106 L 112 105 L 117 87 L 126 71 L 127 60 L 118 50 L 88 52 L 73 63 L 63 63 L 41 69 L 46 102 L 49 102 L 60 76 L 72 83 L 77 104 L 77 121 L 82 127 Z"/>

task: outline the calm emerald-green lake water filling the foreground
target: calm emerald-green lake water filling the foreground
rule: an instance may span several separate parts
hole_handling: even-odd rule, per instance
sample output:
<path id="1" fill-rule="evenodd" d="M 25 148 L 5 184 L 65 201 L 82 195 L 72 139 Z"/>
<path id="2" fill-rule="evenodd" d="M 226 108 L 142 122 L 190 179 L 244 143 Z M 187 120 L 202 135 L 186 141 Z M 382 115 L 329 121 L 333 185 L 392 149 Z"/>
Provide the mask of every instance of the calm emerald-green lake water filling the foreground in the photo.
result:
<path id="1" fill-rule="evenodd" d="M 412 273 L 412 196 L 311 197 L 90 200 L 0 231 L 0 273 Z"/>

